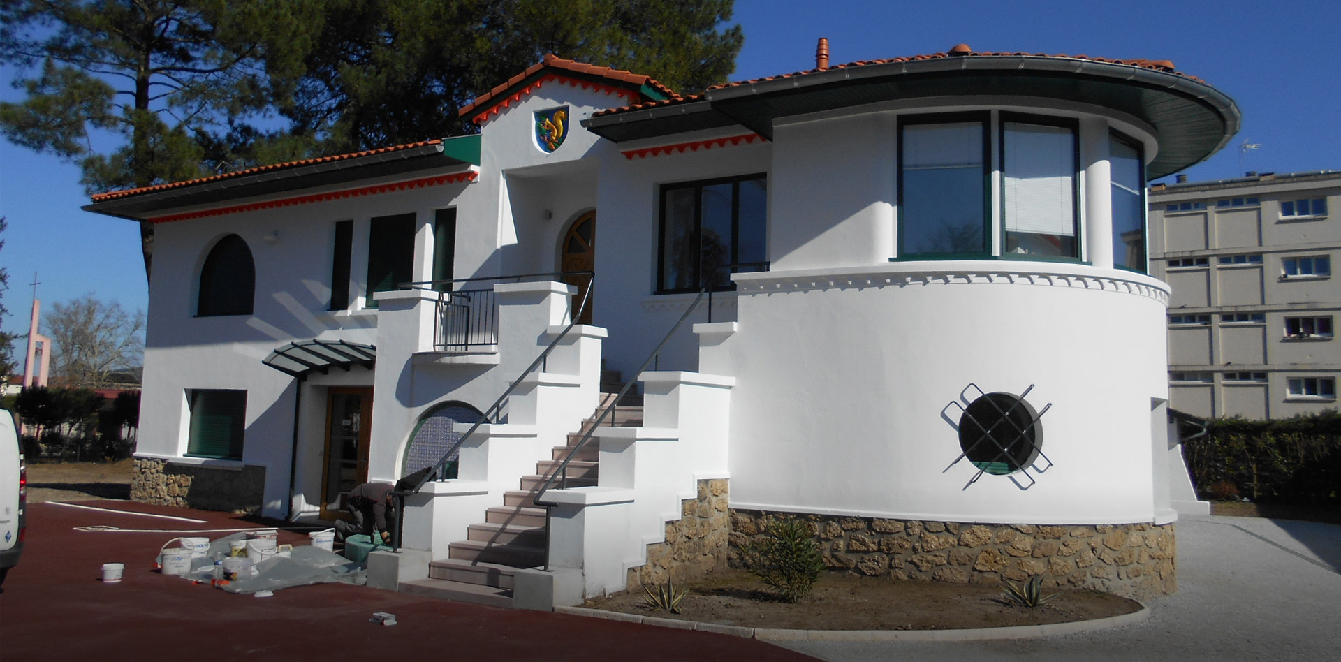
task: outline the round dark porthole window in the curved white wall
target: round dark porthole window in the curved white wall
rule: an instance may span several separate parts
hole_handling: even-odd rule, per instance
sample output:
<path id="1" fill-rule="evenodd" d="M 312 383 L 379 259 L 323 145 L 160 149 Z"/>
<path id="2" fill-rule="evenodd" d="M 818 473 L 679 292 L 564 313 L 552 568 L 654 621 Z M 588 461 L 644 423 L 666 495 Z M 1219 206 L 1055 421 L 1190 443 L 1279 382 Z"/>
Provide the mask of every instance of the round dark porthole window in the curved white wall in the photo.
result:
<path id="1" fill-rule="evenodd" d="M 1004 476 L 1038 456 L 1042 430 L 1034 407 L 1008 393 L 988 393 L 959 417 L 959 448 L 979 469 Z"/>

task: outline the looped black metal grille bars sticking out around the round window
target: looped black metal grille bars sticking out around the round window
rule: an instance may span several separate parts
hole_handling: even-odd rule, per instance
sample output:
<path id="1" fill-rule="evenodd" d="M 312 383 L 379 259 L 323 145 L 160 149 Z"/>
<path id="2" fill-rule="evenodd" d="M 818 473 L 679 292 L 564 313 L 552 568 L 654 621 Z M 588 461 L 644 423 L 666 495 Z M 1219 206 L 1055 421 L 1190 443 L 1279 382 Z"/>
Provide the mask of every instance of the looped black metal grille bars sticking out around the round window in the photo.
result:
<path id="1" fill-rule="evenodd" d="M 1038 413 L 1025 401 L 1025 397 L 1034 390 L 1029 385 L 1025 393 L 1012 395 L 1008 393 L 984 393 L 976 383 L 970 383 L 960 391 L 960 397 L 968 402 L 967 406 L 959 401 L 945 405 L 957 407 L 959 417 L 959 446 L 960 454 L 949 466 L 955 466 L 961 460 L 968 460 L 978 468 L 978 473 L 970 478 L 968 485 L 978 482 L 984 473 L 992 476 L 1010 476 L 1021 489 L 1029 489 L 1037 482 L 1030 474 L 1033 468 L 1037 473 L 1043 473 L 1053 466 L 1053 461 L 1043 454 L 1041 448 L 1042 430 L 1038 421 L 1053 407 L 1049 402 Z M 968 394 L 974 394 L 968 399 Z M 1039 466 L 1042 460 L 1046 465 Z M 1027 480 L 1022 482 L 1021 480 Z"/>

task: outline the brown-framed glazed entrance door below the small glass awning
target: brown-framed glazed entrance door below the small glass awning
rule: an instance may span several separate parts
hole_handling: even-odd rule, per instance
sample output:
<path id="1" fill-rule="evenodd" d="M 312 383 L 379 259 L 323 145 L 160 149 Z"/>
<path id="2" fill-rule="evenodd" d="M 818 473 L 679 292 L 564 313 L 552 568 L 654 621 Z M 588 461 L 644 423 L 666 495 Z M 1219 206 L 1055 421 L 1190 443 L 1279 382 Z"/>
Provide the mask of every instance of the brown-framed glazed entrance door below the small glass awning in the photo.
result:
<path id="1" fill-rule="evenodd" d="M 371 442 L 373 389 L 331 387 L 326 398 L 326 472 L 322 476 L 322 519 L 345 512 L 349 492 L 367 482 Z"/>

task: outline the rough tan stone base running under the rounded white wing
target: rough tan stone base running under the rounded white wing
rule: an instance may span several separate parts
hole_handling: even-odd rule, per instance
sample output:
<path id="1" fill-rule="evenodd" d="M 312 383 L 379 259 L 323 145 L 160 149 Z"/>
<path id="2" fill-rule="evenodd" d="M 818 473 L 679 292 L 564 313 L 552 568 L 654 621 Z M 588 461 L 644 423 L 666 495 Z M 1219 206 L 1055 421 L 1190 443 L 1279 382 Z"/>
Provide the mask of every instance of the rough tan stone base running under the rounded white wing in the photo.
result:
<path id="1" fill-rule="evenodd" d="M 774 519 L 805 521 L 825 563 L 838 572 L 957 584 L 1042 576 L 1043 588 L 1136 599 L 1177 591 L 1172 524 L 961 524 L 732 509 L 732 566 L 740 566 L 740 549 Z"/>

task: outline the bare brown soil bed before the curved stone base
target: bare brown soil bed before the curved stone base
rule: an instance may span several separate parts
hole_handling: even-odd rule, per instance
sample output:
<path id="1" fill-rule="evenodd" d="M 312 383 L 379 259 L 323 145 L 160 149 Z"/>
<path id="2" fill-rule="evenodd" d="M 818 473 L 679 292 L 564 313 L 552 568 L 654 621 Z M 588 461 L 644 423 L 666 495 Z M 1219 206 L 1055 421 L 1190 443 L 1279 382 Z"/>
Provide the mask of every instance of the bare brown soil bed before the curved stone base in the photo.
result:
<path id="1" fill-rule="evenodd" d="M 1045 591 L 1049 595 L 1055 591 Z M 680 614 L 652 610 L 641 592 L 587 600 L 583 607 L 700 623 L 797 630 L 960 630 L 1067 623 L 1130 614 L 1136 600 L 1097 591 L 1065 591 L 1049 604 L 1010 603 L 999 586 L 947 584 L 827 574 L 810 596 L 789 604 L 731 570 L 689 586 Z"/>

